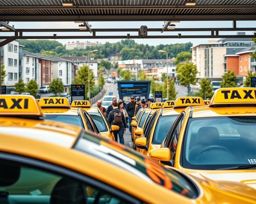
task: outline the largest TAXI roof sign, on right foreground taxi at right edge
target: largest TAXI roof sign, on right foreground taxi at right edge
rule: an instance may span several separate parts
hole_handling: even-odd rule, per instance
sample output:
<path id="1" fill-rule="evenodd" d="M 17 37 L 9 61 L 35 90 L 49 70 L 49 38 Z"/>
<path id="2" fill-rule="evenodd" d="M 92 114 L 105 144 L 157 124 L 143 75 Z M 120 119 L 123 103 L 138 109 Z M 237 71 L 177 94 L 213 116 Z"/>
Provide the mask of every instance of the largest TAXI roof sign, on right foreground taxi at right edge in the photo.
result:
<path id="1" fill-rule="evenodd" d="M 256 88 L 219 88 L 215 90 L 209 103 L 210 107 L 230 106 L 231 104 L 256 104 Z"/>

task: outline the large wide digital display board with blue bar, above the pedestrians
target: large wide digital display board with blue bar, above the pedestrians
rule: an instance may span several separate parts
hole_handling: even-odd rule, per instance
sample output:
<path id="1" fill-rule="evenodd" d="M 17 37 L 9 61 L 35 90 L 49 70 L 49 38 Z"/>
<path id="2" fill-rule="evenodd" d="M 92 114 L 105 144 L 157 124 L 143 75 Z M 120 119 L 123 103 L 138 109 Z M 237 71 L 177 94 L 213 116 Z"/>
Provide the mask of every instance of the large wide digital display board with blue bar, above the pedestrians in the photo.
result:
<path id="1" fill-rule="evenodd" d="M 124 96 L 144 96 L 149 97 L 150 81 L 118 81 L 118 94 Z"/>

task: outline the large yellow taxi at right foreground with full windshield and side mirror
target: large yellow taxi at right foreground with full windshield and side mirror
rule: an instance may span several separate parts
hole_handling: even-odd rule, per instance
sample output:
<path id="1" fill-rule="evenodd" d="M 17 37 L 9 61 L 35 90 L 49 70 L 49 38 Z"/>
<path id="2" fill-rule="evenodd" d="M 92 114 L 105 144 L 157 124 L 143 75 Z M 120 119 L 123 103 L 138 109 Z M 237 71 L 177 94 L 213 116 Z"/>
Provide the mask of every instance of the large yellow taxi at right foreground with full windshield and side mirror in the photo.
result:
<path id="1" fill-rule="evenodd" d="M 209 106 L 187 107 L 171 127 L 162 148 L 149 156 L 256 203 L 256 88 L 220 88 Z M 241 200 L 241 199 L 244 200 Z"/>

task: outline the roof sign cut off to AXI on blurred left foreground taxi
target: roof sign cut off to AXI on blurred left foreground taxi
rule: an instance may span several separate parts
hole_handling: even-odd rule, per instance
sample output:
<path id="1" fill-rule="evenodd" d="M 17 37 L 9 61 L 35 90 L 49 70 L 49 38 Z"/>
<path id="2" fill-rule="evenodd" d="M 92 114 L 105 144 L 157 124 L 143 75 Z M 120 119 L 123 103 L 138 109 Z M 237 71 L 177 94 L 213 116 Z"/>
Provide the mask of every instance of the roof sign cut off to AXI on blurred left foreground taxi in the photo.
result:
<path id="1" fill-rule="evenodd" d="M 0 115 L 41 116 L 42 109 L 31 95 L 0 95 Z"/>

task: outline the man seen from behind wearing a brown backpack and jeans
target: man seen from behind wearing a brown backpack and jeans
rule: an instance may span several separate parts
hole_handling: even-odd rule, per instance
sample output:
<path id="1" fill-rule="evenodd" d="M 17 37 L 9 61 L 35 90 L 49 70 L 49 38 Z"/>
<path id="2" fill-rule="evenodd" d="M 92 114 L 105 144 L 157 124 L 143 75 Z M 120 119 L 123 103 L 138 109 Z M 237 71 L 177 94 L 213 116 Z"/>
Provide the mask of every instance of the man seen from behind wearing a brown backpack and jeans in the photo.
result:
<path id="1" fill-rule="evenodd" d="M 123 104 L 123 102 L 119 102 L 119 107 L 120 104 Z M 126 131 L 125 117 L 123 115 L 123 111 L 118 108 L 118 104 L 116 101 L 112 103 L 112 106 L 113 110 L 109 112 L 109 117 L 107 118 L 107 120 L 109 121 L 109 124 L 119 126 L 119 130 L 113 132 L 115 136 L 115 141 L 117 142 L 118 135 L 120 143 L 124 145 L 125 141 L 123 139 L 123 133 L 124 131 Z"/>

